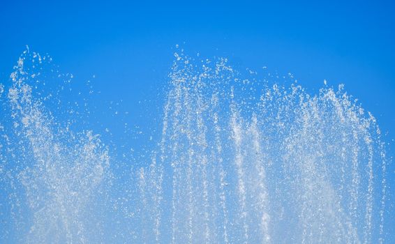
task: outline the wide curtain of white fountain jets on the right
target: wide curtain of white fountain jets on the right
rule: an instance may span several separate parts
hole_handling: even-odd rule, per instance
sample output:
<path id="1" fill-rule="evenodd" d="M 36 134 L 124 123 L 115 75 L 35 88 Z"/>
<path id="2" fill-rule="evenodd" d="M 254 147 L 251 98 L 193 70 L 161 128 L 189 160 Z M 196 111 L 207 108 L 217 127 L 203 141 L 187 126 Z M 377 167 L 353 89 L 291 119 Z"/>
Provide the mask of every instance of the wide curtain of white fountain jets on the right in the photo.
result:
<path id="1" fill-rule="evenodd" d="M 140 171 L 142 211 L 156 221 L 143 241 L 382 241 L 385 153 L 374 117 L 343 86 L 311 96 L 272 75 L 242 77 L 225 59 L 176 54 L 151 165 L 159 170 Z"/>

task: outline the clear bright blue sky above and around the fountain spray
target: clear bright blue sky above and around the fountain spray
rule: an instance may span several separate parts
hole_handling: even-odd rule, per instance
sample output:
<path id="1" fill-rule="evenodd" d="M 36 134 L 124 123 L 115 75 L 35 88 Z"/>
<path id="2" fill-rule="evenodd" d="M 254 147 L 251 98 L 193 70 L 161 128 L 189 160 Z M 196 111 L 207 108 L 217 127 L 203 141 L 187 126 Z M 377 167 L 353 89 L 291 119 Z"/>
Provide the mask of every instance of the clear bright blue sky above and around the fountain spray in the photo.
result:
<path id="1" fill-rule="evenodd" d="M 49 53 L 75 82 L 95 75 L 101 98 L 124 100 L 134 124 L 150 123 L 146 114 L 161 111 L 158 94 L 176 44 L 187 53 L 228 57 L 235 66 L 290 72 L 312 93 L 324 79 L 344 83 L 378 119 L 385 140 L 395 138 L 393 1 L 0 3 L 0 82 L 29 45 Z M 388 181 L 387 241 L 395 242 L 393 164 Z"/>

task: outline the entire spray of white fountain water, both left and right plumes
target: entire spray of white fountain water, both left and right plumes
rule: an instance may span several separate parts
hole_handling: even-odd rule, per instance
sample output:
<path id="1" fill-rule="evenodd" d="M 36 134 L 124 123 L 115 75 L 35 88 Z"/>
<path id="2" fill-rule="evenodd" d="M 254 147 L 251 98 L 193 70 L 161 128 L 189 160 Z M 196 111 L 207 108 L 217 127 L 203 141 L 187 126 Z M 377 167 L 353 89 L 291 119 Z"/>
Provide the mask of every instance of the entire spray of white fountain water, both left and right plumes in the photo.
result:
<path id="1" fill-rule="evenodd" d="M 151 162 L 112 185 L 112 149 L 45 105 L 42 62 L 25 52 L 0 86 L 1 240 L 384 242 L 385 149 L 343 86 L 312 96 L 176 54 Z"/>

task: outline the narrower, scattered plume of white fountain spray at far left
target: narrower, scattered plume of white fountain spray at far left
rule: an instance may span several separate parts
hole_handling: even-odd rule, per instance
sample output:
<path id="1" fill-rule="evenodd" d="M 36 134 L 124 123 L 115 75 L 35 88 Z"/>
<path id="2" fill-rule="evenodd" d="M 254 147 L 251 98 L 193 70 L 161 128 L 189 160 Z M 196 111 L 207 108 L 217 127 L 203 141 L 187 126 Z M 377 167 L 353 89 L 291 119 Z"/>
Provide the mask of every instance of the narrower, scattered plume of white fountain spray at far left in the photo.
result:
<path id="1" fill-rule="evenodd" d="M 100 204 L 96 197 L 103 191 L 100 186 L 110 158 L 98 135 L 89 130 L 71 132 L 71 120 L 57 121 L 50 111 L 54 107 L 45 107 L 45 101 L 57 93 L 40 93 L 38 80 L 51 73 L 58 77 L 54 70 L 43 70 L 52 67 L 46 59 L 50 58 L 26 51 L 3 98 L 7 103 L 2 104 L 2 119 L 12 126 L 3 128 L 1 138 L 1 176 L 10 191 L 2 203 L 15 208 L 9 216 L 20 218 L 4 230 L 16 235 L 11 242 L 94 242 L 100 240 L 93 237 L 100 227 L 94 212 L 96 202 Z M 70 109 L 65 114 L 75 112 Z M 3 238 L 7 240 L 6 233 Z"/>

